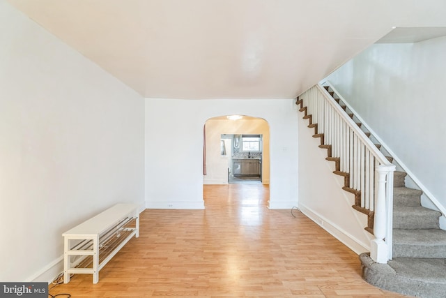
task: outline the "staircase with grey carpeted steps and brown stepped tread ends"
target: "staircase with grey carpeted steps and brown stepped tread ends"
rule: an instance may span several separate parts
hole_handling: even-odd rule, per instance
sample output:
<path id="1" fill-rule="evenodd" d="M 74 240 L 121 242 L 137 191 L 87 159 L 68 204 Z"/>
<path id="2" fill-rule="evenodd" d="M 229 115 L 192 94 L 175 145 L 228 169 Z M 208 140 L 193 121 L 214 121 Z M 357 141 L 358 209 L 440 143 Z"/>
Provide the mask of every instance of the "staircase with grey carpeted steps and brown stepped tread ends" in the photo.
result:
<path id="1" fill-rule="evenodd" d="M 357 117 L 339 100 L 330 87 L 324 87 L 330 96 L 361 128 Z M 321 138 L 319 147 L 328 149 L 328 161 L 336 165 L 334 174 L 345 177 L 345 191 L 355 195 L 353 208 L 367 214 L 369 220 L 365 228 L 374 233 L 374 211 L 361 207 L 360 191 L 350 186 L 349 173 L 339 170 L 340 158 L 332 156 L 332 145 L 325 144 L 324 134 L 318 133 L 318 124 L 313 123 L 312 115 L 307 114 L 307 107 L 298 98 L 296 104 L 304 119 L 309 119 L 309 128 L 314 129 L 313 137 Z M 371 133 L 364 131 L 367 137 Z M 380 144 L 376 144 L 380 149 Z M 391 156 L 386 156 L 392 162 Z M 446 297 L 446 231 L 439 227 L 439 211 L 427 209 L 421 205 L 422 191 L 406 187 L 406 172 L 394 172 L 393 179 L 393 241 L 392 260 L 379 264 L 370 258 L 369 253 L 360 255 L 362 276 L 365 281 L 378 288 L 399 292 L 415 297 Z"/>

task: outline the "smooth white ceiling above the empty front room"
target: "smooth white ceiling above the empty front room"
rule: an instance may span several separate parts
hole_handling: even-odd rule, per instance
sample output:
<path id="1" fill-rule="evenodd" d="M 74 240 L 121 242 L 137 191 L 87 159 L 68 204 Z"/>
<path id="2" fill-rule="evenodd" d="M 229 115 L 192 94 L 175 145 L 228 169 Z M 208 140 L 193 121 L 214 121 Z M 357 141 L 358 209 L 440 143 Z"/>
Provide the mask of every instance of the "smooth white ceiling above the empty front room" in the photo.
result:
<path id="1" fill-rule="evenodd" d="M 446 27 L 444 0 L 8 1 L 151 98 L 293 98 L 394 27 Z"/>

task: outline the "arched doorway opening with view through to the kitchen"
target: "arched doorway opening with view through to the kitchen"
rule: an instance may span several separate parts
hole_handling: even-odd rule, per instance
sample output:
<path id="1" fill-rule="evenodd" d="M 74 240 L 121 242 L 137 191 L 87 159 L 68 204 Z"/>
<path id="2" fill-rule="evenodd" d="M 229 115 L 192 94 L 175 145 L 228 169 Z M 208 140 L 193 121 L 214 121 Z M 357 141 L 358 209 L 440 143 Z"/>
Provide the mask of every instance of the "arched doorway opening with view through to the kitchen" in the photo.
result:
<path id="1" fill-rule="evenodd" d="M 204 127 L 204 144 L 203 184 L 229 184 L 234 177 L 270 184 L 270 127 L 265 119 L 210 118 Z"/>

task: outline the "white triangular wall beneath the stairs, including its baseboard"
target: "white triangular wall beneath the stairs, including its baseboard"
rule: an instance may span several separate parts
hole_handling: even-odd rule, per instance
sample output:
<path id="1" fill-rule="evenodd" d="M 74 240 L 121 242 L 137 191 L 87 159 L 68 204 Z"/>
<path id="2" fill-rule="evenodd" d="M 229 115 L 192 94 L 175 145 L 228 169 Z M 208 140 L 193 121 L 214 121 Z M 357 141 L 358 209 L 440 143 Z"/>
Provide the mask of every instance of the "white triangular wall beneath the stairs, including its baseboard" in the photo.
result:
<path id="1" fill-rule="evenodd" d="M 334 163 L 326 161 L 314 128 L 299 117 L 299 209 L 339 241 L 360 254 L 370 251 L 367 216 L 353 209 L 354 195 L 342 190 L 344 177 L 333 174 Z"/>

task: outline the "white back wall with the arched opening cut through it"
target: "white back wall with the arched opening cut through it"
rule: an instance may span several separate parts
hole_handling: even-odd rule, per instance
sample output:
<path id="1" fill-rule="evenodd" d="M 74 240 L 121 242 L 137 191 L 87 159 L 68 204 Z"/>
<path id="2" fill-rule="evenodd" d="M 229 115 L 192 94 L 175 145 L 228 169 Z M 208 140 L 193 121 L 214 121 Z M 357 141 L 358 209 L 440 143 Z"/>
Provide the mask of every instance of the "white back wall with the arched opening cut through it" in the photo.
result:
<path id="1" fill-rule="evenodd" d="M 297 111 L 293 100 L 146 99 L 146 207 L 203 208 L 203 126 L 244 114 L 270 125 L 270 208 L 298 202 Z"/>

